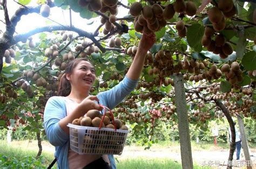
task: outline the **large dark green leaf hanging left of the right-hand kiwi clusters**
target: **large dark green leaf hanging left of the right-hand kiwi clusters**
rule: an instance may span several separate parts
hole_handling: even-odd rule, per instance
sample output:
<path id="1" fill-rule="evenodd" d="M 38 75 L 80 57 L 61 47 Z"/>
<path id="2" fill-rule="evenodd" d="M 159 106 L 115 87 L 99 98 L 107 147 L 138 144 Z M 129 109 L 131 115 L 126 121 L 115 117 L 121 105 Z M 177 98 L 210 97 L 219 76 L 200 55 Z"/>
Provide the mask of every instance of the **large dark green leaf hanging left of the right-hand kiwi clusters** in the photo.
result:
<path id="1" fill-rule="evenodd" d="M 203 49 L 201 39 L 204 36 L 205 28 L 203 25 L 194 24 L 187 29 L 187 42 L 196 52 Z"/>

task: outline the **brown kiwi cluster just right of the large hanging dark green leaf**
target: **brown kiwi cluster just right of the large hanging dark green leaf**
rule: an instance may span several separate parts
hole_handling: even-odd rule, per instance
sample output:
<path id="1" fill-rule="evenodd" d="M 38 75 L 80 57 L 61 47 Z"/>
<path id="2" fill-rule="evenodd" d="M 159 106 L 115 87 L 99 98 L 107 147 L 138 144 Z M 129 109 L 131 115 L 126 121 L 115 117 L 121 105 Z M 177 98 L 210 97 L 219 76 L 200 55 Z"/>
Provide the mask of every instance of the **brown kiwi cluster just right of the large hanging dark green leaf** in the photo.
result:
<path id="1" fill-rule="evenodd" d="M 215 34 L 211 27 L 205 27 L 204 36 L 201 44 L 207 48 L 207 51 L 219 54 L 221 59 L 226 59 L 233 53 L 233 47 L 228 43 L 222 34 Z"/>

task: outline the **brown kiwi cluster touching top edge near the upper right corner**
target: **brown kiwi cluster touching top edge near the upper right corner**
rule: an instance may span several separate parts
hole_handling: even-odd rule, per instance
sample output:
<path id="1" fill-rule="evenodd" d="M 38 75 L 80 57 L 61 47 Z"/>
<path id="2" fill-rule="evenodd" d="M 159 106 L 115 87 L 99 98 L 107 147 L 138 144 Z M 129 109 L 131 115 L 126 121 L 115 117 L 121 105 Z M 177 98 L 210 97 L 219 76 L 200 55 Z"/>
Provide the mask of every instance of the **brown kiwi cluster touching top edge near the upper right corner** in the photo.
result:
<path id="1" fill-rule="evenodd" d="M 226 22 L 224 18 L 232 18 L 235 15 L 235 6 L 232 0 L 220 0 L 217 6 L 208 10 L 208 18 L 215 31 L 225 29 Z"/>

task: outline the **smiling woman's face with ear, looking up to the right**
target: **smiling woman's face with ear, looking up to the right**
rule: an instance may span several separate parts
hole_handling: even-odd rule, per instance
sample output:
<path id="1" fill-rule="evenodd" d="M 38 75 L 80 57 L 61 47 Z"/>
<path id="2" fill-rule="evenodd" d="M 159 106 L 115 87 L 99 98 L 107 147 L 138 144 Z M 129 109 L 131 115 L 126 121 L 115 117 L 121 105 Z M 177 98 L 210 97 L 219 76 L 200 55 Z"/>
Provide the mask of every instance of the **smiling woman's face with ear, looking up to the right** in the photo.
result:
<path id="1" fill-rule="evenodd" d="M 71 87 L 78 89 L 90 90 L 96 79 L 95 68 L 90 62 L 80 61 L 71 74 L 67 74 L 66 78 L 70 81 Z"/>

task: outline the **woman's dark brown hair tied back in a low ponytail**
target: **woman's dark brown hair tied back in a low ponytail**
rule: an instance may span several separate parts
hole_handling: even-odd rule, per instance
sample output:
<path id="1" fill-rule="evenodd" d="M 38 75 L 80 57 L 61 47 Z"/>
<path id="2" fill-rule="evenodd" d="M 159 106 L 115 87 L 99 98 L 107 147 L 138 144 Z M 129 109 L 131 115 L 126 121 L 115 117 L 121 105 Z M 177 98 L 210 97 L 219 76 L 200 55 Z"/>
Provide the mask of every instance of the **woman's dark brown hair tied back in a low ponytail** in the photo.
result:
<path id="1" fill-rule="evenodd" d="M 71 84 L 68 79 L 66 79 L 66 74 L 71 74 L 73 72 L 73 69 L 77 66 L 77 64 L 80 61 L 87 61 L 90 62 L 87 58 L 78 58 L 75 60 L 72 60 L 68 63 L 66 66 L 66 69 L 64 71 L 64 74 L 62 75 L 62 78 L 60 78 L 59 86 L 58 86 L 58 96 L 68 96 L 71 91 Z M 92 65 L 92 63 L 90 62 Z"/>

